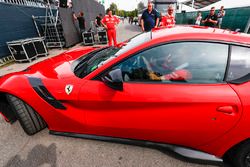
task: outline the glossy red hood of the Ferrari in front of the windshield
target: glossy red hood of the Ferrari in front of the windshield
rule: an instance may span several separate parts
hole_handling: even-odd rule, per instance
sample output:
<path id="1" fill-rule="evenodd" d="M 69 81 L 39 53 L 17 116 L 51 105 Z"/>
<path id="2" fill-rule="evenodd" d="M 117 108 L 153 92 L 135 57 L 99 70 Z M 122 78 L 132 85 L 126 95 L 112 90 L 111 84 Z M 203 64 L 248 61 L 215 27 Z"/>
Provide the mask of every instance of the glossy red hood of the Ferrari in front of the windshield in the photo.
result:
<path id="1" fill-rule="evenodd" d="M 24 72 L 37 78 L 65 79 L 75 77 L 71 68 L 72 63 L 81 56 L 96 50 L 96 47 L 81 47 L 66 51 L 56 57 L 48 58 L 42 62 L 28 67 Z"/>

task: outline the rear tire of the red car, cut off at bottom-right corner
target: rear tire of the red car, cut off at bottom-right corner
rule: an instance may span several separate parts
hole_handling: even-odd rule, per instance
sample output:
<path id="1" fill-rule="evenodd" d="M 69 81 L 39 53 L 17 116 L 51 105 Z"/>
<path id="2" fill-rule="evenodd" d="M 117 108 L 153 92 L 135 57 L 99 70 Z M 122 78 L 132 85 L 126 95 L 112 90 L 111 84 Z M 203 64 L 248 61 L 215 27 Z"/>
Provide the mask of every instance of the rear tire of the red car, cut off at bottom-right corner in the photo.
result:
<path id="1" fill-rule="evenodd" d="M 239 145 L 230 159 L 235 167 L 250 167 L 250 141 Z"/>

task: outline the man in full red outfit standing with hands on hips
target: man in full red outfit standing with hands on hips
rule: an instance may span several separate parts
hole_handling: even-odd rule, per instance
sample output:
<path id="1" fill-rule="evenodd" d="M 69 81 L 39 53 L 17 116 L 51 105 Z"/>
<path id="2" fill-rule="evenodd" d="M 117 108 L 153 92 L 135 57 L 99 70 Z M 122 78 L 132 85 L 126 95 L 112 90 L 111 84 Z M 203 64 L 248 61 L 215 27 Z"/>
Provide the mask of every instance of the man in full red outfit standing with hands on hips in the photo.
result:
<path id="1" fill-rule="evenodd" d="M 107 30 L 109 46 L 112 46 L 112 41 L 116 46 L 116 26 L 119 24 L 119 19 L 112 15 L 112 10 L 108 9 L 108 15 L 102 19 L 101 23 Z"/>

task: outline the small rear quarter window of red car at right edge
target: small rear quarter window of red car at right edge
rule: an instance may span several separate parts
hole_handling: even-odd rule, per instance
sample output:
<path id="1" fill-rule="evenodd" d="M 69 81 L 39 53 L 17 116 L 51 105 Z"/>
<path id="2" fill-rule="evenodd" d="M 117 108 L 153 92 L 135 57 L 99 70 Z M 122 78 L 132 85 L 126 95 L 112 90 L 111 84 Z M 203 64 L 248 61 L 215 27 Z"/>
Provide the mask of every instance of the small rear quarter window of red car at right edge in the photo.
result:
<path id="1" fill-rule="evenodd" d="M 227 81 L 244 77 L 250 73 L 250 48 L 232 46 Z"/>

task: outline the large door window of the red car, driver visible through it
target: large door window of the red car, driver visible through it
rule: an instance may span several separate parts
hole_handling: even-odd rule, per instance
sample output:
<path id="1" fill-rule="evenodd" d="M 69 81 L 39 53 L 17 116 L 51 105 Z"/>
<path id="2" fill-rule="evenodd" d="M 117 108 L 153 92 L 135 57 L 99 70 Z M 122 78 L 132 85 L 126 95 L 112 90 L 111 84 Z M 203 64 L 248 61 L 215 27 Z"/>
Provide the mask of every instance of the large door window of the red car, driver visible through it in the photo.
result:
<path id="1" fill-rule="evenodd" d="M 179 42 L 143 51 L 114 68 L 125 82 L 221 83 L 227 58 L 228 45 Z"/>

